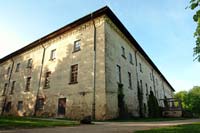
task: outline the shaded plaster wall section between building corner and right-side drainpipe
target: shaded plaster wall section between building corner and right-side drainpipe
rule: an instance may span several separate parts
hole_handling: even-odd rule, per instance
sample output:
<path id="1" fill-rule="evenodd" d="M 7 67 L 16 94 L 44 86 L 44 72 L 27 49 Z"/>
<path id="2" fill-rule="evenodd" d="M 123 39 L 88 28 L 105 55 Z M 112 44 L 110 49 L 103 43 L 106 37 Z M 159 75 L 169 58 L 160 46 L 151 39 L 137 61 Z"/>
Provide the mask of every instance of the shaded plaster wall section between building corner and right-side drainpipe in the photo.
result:
<path id="1" fill-rule="evenodd" d="M 138 116 L 137 100 L 137 79 L 136 63 L 134 59 L 134 48 L 127 42 L 123 34 L 106 18 L 105 23 L 106 38 L 106 101 L 107 117 L 114 118 L 118 116 L 118 83 L 117 83 L 117 65 L 121 66 L 121 79 L 124 90 L 125 107 L 129 113 Z M 125 48 L 126 59 L 121 56 L 121 46 Z M 133 55 L 133 64 L 129 62 L 128 54 Z M 128 87 L 128 72 L 132 74 L 132 88 Z"/>

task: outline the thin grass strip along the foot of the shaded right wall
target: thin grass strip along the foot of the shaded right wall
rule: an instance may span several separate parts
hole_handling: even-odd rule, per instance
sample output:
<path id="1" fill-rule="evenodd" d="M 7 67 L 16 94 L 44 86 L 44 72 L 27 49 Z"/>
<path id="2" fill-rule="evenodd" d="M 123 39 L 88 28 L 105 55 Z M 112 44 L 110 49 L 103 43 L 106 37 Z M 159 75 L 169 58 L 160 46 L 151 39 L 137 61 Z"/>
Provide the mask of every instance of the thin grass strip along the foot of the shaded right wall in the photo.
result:
<path id="1" fill-rule="evenodd" d="M 186 120 L 189 118 L 130 118 L 130 119 L 112 119 L 107 122 L 156 122 L 156 121 L 175 121 Z"/>

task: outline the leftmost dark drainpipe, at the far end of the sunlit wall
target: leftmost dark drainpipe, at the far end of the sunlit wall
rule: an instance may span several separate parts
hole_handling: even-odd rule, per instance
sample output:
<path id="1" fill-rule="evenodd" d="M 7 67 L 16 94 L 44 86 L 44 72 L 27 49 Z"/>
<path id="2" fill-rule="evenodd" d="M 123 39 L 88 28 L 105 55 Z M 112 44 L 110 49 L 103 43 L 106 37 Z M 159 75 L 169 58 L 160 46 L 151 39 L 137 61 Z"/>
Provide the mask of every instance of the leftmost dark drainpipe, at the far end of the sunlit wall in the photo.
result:
<path id="1" fill-rule="evenodd" d="M 13 71 L 13 67 L 14 67 L 14 60 L 13 58 L 11 58 L 12 60 L 12 66 L 11 66 L 11 71 L 10 71 L 10 74 L 9 74 L 9 78 L 8 78 L 8 86 L 7 88 L 9 89 L 9 86 L 10 86 L 10 80 L 11 80 L 11 77 L 12 77 L 12 71 Z M 3 115 L 4 113 L 4 110 L 5 110 L 5 107 L 6 107 L 6 102 L 7 102 L 7 95 L 9 93 L 8 89 L 6 88 L 6 93 L 5 93 L 5 99 L 4 99 L 4 102 L 3 102 L 3 107 L 2 107 L 2 111 L 1 111 L 1 115 Z"/>

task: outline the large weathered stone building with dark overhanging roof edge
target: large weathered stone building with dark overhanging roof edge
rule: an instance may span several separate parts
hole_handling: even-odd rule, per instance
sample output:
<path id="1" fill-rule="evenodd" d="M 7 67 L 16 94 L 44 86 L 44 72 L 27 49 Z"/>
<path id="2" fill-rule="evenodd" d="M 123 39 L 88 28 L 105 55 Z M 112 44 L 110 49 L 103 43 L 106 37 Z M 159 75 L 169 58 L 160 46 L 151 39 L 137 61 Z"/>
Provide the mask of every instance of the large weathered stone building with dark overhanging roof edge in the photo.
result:
<path id="1" fill-rule="evenodd" d="M 150 92 L 174 89 L 108 7 L 0 59 L 1 115 L 148 116 Z"/>

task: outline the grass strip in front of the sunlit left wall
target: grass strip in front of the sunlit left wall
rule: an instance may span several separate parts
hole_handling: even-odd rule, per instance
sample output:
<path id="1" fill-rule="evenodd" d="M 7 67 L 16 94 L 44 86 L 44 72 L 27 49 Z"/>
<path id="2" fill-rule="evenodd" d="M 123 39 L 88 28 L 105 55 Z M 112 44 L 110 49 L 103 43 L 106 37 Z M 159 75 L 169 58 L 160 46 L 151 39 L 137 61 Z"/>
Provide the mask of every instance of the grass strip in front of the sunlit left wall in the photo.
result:
<path id="1" fill-rule="evenodd" d="M 43 120 L 26 117 L 0 117 L 0 129 L 39 128 L 55 126 L 75 126 L 77 121 L 70 120 Z"/>

